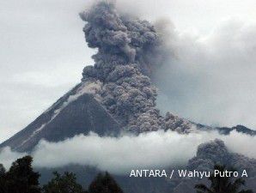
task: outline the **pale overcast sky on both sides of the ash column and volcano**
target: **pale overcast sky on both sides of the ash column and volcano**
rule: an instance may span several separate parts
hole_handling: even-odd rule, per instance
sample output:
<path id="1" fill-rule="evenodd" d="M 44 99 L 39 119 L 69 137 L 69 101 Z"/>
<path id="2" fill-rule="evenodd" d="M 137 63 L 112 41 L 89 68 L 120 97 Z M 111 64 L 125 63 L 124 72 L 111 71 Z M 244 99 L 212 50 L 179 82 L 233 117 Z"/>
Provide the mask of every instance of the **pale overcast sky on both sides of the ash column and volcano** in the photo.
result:
<path id="1" fill-rule="evenodd" d="M 159 77 L 168 72 L 157 80 L 164 111 L 203 124 L 256 128 L 255 1 L 117 3 L 120 11 L 149 21 L 170 21 L 170 46 L 177 57 L 159 71 Z M 85 65 L 93 64 L 94 50 L 85 43 L 78 16 L 87 4 L 0 0 L 0 142 L 31 123 L 80 81 Z"/>

